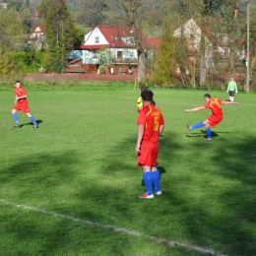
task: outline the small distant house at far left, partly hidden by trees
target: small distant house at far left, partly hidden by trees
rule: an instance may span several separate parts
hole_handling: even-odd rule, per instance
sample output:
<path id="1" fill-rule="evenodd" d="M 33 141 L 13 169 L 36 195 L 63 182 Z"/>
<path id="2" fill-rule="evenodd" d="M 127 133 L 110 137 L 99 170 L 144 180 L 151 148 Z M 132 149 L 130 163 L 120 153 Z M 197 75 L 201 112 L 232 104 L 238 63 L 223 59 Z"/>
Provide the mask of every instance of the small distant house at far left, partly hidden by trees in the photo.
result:
<path id="1" fill-rule="evenodd" d="M 28 43 L 33 45 L 35 50 L 38 51 L 45 47 L 45 26 L 38 25 L 29 36 Z"/>

